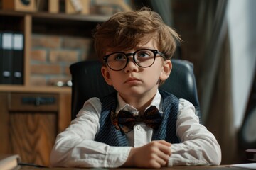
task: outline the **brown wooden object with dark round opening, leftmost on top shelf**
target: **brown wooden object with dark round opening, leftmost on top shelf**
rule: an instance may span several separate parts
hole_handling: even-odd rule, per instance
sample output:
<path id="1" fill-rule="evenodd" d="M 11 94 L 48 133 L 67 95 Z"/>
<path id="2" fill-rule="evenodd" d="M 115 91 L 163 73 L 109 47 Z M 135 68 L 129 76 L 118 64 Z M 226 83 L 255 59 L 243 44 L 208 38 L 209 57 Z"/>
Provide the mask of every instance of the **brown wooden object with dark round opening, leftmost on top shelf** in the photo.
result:
<path id="1" fill-rule="evenodd" d="M 3 10 L 36 11 L 36 0 L 3 0 Z"/>

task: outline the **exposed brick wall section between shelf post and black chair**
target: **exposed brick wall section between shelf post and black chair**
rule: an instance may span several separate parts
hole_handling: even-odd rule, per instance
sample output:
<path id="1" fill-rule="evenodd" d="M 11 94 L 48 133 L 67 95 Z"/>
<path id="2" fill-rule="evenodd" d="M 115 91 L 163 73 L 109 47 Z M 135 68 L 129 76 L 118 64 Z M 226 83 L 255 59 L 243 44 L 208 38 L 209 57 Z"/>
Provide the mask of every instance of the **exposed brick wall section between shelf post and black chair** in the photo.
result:
<path id="1" fill-rule="evenodd" d="M 55 86 L 71 79 L 70 64 L 90 59 L 92 40 L 61 35 L 32 35 L 31 85 Z"/>

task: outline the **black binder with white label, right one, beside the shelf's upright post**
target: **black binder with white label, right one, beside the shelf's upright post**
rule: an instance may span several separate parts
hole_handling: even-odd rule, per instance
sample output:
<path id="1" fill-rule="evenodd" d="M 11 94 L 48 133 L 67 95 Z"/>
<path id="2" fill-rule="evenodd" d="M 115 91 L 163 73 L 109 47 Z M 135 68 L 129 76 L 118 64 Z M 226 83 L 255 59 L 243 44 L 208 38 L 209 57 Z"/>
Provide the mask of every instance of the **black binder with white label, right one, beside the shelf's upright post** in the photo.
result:
<path id="1" fill-rule="evenodd" d="M 24 36 L 22 33 L 13 34 L 12 84 L 23 84 L 23 52 Z"/>

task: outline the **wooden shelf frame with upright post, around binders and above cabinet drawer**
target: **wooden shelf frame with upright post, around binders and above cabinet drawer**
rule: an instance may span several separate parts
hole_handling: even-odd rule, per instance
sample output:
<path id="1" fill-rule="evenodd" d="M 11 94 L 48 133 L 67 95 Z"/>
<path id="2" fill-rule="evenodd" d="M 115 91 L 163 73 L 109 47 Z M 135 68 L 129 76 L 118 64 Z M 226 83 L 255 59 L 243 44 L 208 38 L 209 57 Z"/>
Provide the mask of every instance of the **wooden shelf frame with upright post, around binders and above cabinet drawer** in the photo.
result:
<path id="1" fill-rule="evenodd" d="M 0 91 L 68 93 L 70 87 L 33 86 L 31 84 L 32 35 L 60 35 L 75 38 L 91 38 L 97 23 L 110 16 L 67 14 L 48 12 L 21 12 L 0 10 L 0 31 L 17 31 L 24 34 L 23 85 L 0 84 Z"/>

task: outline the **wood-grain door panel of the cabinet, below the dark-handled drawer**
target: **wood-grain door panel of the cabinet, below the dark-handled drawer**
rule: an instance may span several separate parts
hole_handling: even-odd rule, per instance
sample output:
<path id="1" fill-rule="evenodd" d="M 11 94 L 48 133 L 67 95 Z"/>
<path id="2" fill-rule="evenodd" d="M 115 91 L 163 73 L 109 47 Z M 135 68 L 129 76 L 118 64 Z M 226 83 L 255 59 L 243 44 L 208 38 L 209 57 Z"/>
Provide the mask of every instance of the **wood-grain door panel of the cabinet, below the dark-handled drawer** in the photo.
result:
<path id="1" fill-rule="evenodd" d="M 49 165 L 56 136 L 56 113 L 10 113 L 11 152 L 22 162 Z"/>

